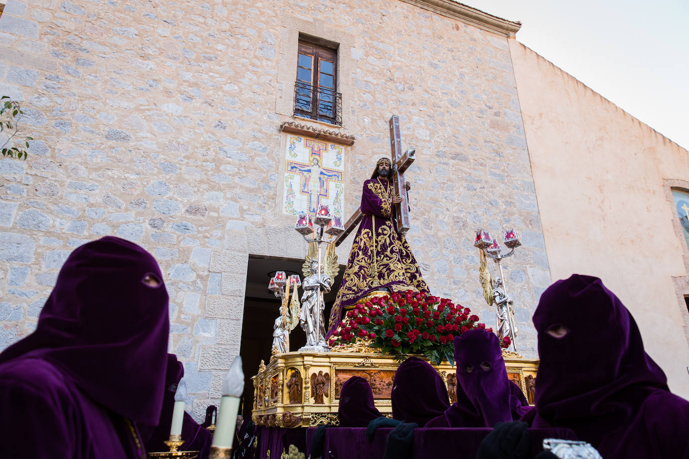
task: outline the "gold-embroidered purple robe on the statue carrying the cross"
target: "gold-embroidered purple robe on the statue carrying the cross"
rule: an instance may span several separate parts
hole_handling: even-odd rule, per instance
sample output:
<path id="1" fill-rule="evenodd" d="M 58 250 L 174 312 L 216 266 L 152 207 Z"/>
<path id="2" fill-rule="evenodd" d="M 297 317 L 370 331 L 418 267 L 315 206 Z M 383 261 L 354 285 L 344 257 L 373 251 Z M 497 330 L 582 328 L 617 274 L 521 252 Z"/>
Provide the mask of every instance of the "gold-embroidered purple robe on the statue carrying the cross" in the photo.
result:
<path id="1" fill-rule="evenodd" d="M 342 284 L 330 312 L 329 334 L 340 323 L 342 309 L 355 304 L 373 290 L 429 291 L 407 239 L 398 233 L 393 223 L 394 194 L 391 182 L 385 178 L 372 178 L 364 182 L 360 207 L 364 216 L 354 237 Z M 374 242 L 377 272 L 373 263 Z M 374 281 L 378 281 L 378 285 Z"/>

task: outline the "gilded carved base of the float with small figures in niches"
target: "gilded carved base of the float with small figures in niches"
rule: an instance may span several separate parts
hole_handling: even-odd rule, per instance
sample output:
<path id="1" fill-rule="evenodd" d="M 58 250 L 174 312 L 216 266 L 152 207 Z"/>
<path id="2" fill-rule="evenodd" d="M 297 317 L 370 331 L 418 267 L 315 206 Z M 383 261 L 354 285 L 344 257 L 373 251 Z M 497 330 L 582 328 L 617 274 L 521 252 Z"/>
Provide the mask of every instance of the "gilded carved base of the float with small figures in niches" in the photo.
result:
<path id="1" fill-rule="evenodd" d="M 251 419 L 265 427 L 313 427 L 338 424 L 342 384 L 351 376 L 371 384 L 376 408 L 391 416 L 390 394 L 399 363 L 391 355 L 371 352 L 370 343 L 333 348 L 331 352 L 287 352 L 261 365 L 254 381 Z M 507 375 L 533 404 L 538 361 L 503 354 Z M 447 362 L 433 365 L 445 382 L 451 401 L 457 398 L 456 368 Z"/>

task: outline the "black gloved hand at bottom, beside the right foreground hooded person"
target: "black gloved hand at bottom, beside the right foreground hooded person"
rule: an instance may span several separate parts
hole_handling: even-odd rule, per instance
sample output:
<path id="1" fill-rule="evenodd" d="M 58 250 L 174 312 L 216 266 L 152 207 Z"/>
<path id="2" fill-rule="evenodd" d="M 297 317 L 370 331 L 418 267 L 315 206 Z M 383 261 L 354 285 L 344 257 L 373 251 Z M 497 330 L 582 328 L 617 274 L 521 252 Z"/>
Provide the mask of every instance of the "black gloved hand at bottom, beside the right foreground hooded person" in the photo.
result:
<path id="1" fill-rule="evenodd" d="M 528 459 L 528 424 L 497 423 L 481 442 L 476 459 Z"/>

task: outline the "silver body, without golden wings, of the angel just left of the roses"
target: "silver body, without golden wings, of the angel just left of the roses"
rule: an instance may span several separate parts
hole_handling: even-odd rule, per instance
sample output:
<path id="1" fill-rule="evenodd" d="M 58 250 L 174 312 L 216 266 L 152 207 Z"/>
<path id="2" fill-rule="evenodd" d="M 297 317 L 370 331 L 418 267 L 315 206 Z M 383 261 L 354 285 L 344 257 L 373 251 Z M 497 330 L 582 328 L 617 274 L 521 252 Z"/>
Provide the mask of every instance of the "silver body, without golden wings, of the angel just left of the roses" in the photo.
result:
<path id="1" fill-rule="evenodd" d="M 325 268 L 321 266 L 318 273 L 318 259 L 312 259 L 309 263 L 310 274 L 302 281 L 304 293 L 302 295 L 302 308 L 299 316 L 299 324 L 306 334 L 307 346 L 326 347 L 325 322 L 323 310 L 325 301 L 323 294 L 330 291 L 333 281 L 325 275 Z"/>

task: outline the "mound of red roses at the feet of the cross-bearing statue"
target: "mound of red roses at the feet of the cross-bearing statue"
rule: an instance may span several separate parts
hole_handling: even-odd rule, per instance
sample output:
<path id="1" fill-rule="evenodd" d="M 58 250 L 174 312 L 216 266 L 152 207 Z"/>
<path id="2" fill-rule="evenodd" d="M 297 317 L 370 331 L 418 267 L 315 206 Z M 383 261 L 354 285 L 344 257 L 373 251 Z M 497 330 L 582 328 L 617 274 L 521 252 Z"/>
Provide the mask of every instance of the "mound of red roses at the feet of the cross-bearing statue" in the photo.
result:
<path id="1" fill-rule="evenodd" d="M 347 312 L 328 344 L 336 347 L 358 338 L 370 339 L 371 348 L 380 348 L 398 360 L 406 359 L 408 354 L 424 354 L 438 365 L 444 360 L 454 365 L 454 337 L 472 328 L 486 328 L 478 321 L 469 308 L 449 299 L 411 290 L 404 294 L 393 292 L 357 304 Z"/>

